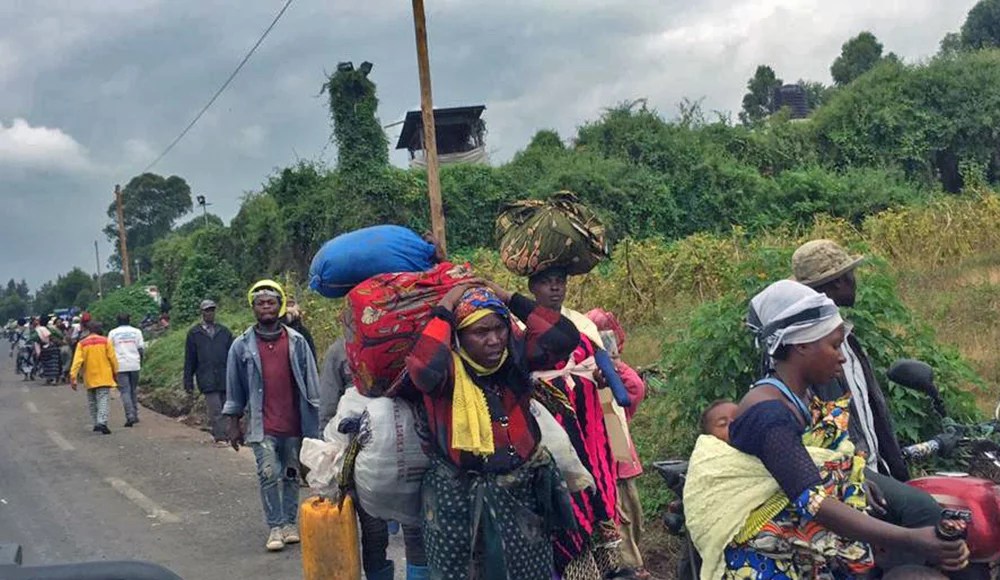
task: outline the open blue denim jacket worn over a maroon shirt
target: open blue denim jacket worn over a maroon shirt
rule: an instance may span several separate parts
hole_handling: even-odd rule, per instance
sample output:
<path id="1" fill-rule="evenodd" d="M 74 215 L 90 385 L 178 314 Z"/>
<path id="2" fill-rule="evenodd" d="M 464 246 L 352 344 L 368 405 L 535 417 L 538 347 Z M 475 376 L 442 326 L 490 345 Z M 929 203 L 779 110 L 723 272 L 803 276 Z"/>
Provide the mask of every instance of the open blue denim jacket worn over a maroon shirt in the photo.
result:
<path id="1" fill-rule="evenodd" d="M 302 436 L 318 438 L 319 419 L 319 374 L 309 344 L 301 334 L 287 326 L 288 354 L 292 363 L 292 375 L 299 387 L 299 417 Z M 247 419 L 247 443 L 264 440 L 264 379 L 257 350 L 257 337 L 251 326 L 229 347 L 226 361 L 226 404 L 223 415 L 239 417 L 249 407 Z"/>

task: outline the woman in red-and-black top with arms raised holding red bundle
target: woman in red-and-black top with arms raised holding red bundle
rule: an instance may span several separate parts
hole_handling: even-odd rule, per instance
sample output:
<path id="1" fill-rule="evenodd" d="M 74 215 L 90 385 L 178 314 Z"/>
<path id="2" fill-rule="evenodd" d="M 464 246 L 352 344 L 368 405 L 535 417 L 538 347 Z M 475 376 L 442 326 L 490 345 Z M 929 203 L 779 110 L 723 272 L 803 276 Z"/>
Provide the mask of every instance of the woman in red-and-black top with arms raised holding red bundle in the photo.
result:
<path id="1" fill-rule="evenodd" d="M 432 447 L 428 566 L 443 580 L 550 580 L 551 533 L 572 526 L 573 515 L 566 483 L 539 446 L 529 373 L 569 357 L 579 333 L 558 312 L 485 284 L 445 295 L 406 361 Z"/>

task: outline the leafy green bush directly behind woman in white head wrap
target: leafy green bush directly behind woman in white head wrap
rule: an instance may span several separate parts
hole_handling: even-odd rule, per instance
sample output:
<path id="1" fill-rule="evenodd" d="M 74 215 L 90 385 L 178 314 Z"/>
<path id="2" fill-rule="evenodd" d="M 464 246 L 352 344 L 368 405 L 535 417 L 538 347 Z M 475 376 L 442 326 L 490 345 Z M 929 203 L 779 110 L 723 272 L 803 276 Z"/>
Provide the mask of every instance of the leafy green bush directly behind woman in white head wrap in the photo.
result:
<path id="1" fill-rule="evenodd" d="M 677 409 L 673 419 L 681 429 L 690 432 L 712 401 L 739 400 L 759 378 L 760 355 L 744 325 L 747 304 L 771 281 L 787 277 L 794 248 L 756 250 L 740 265 L 747 281 L 744 287 L 696 308 L 665 347 L 663 364 L 671 378 Z M 914 319 L 896 293 L 896 280 L 887 264 L 877 258 L 870 264 L 859 275 L 858 304 L 845 310 L 845 318 L 854 324 L 854 332 L 887 392 L 899 438 L 910 442 L 927 439 L 941 425 L 925 397 L 885 378 L 885 371 L 898 358 L 919 358 L 931 364 L 953 415 L 974 416 L 974 401 L 963 390 L 980 384 L 971 368 L 952 349 L 937 344 L 933 332 Z M 693 444 L 693 439 L 689 443 Z"/>

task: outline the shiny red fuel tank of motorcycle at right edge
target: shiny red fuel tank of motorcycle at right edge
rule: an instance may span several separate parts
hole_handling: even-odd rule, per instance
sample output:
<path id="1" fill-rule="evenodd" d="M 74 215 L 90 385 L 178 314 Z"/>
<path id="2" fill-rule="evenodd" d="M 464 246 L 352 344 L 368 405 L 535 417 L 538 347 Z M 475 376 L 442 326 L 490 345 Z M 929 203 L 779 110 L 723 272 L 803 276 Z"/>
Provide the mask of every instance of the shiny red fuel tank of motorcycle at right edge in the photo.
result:
<path id="1" fill-rule="evenodd" d="M 1000 487 L 997 484 L 962 474 L 933 475 L 908 483 L 931 494 L 946 508 L 972 512 L 966 540 L 971 561 L 1000 560 Z"/>

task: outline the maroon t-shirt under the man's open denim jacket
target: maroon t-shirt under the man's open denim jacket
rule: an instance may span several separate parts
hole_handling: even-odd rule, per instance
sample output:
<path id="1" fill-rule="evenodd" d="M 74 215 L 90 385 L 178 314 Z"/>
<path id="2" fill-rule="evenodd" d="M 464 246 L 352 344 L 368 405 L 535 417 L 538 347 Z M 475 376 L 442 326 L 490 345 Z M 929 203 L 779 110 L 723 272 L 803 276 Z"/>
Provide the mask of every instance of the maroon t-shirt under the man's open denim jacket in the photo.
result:
<path id="1" fill-rule="evenodd" d="M 301 437 L 299 393 L 288 354 L 288 333 L 277 340 L 257 337 L 260 368 L 264 374 L 264 434 L 276 437 Z"/>

